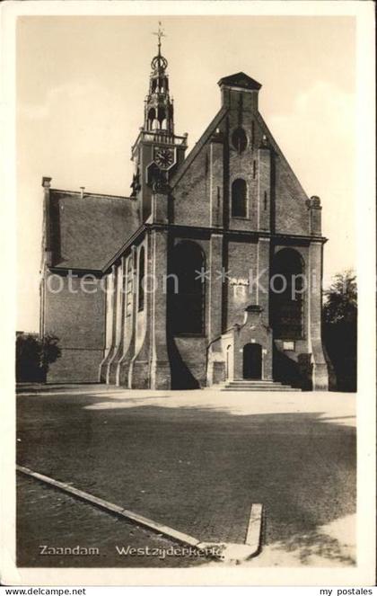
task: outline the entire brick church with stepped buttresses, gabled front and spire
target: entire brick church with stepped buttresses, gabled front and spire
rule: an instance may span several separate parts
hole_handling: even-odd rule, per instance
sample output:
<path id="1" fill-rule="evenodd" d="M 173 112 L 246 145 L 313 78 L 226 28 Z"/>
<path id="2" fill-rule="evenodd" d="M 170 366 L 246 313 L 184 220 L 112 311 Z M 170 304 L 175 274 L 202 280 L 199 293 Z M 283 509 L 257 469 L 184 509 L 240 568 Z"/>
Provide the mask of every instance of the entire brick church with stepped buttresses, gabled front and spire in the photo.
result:
<path id="1" fill-rule="evenodd" d="M 220 111 L 186 156 L 158 39 L 129 196 L 42 181 L 40 334 L 61 348 L 47 381 L 326 390 L 320 199 L 243 72 L 220 79 Z"/>

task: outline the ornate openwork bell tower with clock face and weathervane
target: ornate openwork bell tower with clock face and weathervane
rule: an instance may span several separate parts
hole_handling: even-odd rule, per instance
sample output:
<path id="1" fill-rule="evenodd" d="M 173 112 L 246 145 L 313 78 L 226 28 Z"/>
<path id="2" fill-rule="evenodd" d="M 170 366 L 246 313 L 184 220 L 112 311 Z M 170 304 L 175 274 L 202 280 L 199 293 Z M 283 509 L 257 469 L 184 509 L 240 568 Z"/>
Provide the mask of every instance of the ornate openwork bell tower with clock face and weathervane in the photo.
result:
<path id="1" fill-rule="evenodd" d="M 174 134 L 174 107 L 167 74 L 168 61 L 161 53 L 161 40 L 165 37 L 159 22 L 158 52 L 151 62 L 149 92 L 145 98 L 144 125 L 140 128 L 132 147 L 135 173 L 131 184 L 132 197 L 139 201 L 140 217 L 145 221 L 151 213 L 153 184 L 168 183 L 183 162 L 187 149 L 185 134 Z"/>

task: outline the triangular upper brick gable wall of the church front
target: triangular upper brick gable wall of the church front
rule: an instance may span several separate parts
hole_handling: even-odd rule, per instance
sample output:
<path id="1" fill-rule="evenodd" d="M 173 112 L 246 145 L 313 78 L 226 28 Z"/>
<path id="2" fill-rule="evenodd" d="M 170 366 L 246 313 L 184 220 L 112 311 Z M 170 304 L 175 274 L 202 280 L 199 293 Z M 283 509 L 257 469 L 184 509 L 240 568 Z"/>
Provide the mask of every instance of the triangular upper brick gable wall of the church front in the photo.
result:
<path id="1" fill-rule="evenodd" d="M 271 213 L 271 228 L 277 233 L 310 234 L 305 204 L 308 197 L 257 111 L 256 102 L 250 93 L 240 90 L 230 90 L 228 100 L 228 111 L 216 127 L 216 134 L 223 138 L 223 150 L 216 147 L 215 152 L 211 152 L 215 130 L 210 131 L 207 138 L 200 139 L 198 148 L 193 150 L 196 156 L 173 189 L 174 223 L 186 226 L 214 224 L 216 218 L 214 215 L 211 218 L 210 201 L 212 198 L 214 202 L 217 190 L 219 202 L 225 201 L 224 227 L 250 231 L 259 227 L 268 229 Z M 244 129 L 248 139 L 247 147 L 241 153 L 232 145 L 232 134 L 239 127 Z M 267 172 L 270 188 L 267 179 L 262 184 L 262 194 L 267 193 L 268 214 L 263 213 L 264 199 L 259 196 L 259 176 L 266 173 L 260 163 L 259 151 L 264 136 L 271 151 L 271 168 Z M 217 164 L 219 161 L 224 163 Z M 246 218 L 232 218 L 232 182 L 237 178 L 243 178 L 247 183 Z"/>

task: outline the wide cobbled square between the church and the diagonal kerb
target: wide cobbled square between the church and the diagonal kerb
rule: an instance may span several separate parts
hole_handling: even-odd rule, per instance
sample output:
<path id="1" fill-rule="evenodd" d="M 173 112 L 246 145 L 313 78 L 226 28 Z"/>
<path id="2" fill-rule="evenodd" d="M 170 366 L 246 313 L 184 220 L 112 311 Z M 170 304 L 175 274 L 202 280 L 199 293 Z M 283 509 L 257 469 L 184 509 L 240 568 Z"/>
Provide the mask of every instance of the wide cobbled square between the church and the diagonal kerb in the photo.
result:
<path id="1" fill-rule="evenodd" d="M 19 396 L 18 463 L 203 540 L 243 542 L 251 503 L 263 503 L 264 544 L 291 549 L 355 512 L 349 404 L 215 391 Z"/>

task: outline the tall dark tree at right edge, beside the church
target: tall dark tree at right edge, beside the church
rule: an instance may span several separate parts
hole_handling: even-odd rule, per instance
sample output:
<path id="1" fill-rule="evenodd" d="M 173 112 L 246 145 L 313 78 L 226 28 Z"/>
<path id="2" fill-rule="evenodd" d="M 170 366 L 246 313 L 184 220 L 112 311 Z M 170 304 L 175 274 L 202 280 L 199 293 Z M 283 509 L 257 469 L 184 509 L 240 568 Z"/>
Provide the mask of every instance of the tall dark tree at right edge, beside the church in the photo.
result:
<path id="1" fill-rule="evenodd" d="M 338 391 L 355 391 L 357 378 L 357 285 L 353 271 L 338 273 L 325 291 L 323 339 Z"/>

